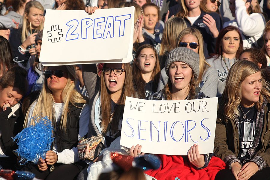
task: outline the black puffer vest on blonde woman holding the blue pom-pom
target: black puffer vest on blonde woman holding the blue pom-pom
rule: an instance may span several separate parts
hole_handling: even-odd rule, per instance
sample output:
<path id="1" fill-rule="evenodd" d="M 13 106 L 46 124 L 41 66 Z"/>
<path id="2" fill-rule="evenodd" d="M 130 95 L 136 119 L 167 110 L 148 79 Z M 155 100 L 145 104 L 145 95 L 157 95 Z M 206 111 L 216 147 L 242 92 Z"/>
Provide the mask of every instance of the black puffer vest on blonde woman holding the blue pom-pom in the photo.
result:
<path id="1" fill-rule="evenodd" d="M 57 152 L 62 152 L 64 149 L 72 149 L 78 145 L 79 134 L 79 116 L 84 104 L 76 103 L 76 106 L 69 105 L 69 112 L 67 113 L 67 129 L 66 132 L 61 131 L 60 121 L 56 123 L 55 139 L 57 145 Z"/>

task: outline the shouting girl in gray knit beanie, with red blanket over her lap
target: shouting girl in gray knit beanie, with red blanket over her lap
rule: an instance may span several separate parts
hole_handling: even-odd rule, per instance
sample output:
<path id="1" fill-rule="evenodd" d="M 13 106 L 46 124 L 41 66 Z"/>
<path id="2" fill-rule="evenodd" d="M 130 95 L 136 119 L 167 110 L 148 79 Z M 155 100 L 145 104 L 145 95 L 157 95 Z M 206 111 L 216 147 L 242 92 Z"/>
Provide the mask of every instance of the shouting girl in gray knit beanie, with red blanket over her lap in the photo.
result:
<path id="1" fill-rule="evenodd" d="M 186 47 L 173 49 L 165 64 L 168 83 L 164 89 L 149 96 L 148 100 L 185 100 L 206 98 L 202 92 L 195 93 L 195 82 L 199 75 L 199 55 Z M 131 148 L 131 155 L 140 154 L 141 146 Z M 143 153 L 142 153 L 143 154 Z M 216 173 L 224 169 L 225 164 L 213 154 L 201 155 L 198 145 L 193 145 L 187 152 L 187 156 L 159 155 L 161 167 L 158 170 L 149 170 L 145 173 L 156 179 L 211 179 Z M 193 158 L 196 157 L 196 158 Z M 210 159 L 214 159 L 211 160 Z M 214 164 L 214 165 L 213 165 Z M 212 167 L 215 166 L 215 170 Z M 211 169 L 211 172 L 210 172 Z M 199 171 L 200 170 L 200 171 Z M 210 178 L 209 178 L 210 177 Z"/>

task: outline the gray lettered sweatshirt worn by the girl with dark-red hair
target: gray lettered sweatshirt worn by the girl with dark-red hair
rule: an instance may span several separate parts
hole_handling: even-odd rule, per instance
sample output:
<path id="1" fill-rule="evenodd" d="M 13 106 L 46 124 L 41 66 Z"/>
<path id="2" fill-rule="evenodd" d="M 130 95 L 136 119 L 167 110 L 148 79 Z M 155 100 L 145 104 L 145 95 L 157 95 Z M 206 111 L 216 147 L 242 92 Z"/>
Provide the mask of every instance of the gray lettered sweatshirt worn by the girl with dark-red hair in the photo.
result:
<path id="1" fill-rule="evenodd" d="M 235 58 L 229 59 L 229 58 L 224 58 L 225 62 L 228 66 L 228 69 L 232 67 L 232 64 L 236 62 Z M 215 70 L 217 70 L 217 97 L 221 97 L 224 88 L 225 88 L 225 82 L 228 76 L 228 69 L 226 67 L 226 64 L 224 63 L 221 55 L 219 56 L 214 56 L 213 58 L 206 59 L 208 64 L 211 65 Z"/>

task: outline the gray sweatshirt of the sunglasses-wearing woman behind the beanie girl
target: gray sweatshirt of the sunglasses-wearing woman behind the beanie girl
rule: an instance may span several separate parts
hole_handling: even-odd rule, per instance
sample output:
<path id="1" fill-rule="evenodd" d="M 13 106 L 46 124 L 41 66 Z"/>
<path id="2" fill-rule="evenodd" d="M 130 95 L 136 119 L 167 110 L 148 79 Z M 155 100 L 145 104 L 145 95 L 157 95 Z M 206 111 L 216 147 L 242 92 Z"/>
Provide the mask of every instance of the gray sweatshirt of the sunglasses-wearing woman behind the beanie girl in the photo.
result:
<path id="1" fill-rule="evenodd" d="M 164 88 L 169 77 L 165 72 L 165 67 L 161 70 L 161 75 L 158 82 L 158 91 Z M 202 81 L 199 84 L 201 92 L 209 98 L 214 98 L 217 95 L 217 72 L 213 67 L 208 67 L 202 75 Z"/>

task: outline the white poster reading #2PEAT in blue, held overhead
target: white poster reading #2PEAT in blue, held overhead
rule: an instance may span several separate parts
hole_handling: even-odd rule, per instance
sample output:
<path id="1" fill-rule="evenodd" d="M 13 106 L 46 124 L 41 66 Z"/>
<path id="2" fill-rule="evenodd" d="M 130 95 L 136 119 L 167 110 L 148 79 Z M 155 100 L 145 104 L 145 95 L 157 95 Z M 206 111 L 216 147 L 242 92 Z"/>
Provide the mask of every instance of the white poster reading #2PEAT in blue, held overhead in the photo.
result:
<path id="1" fill-rule="evenodd" d="M 39 61 L 44 66 L 130 62 L 134 7 L 46 10 Z"/>

